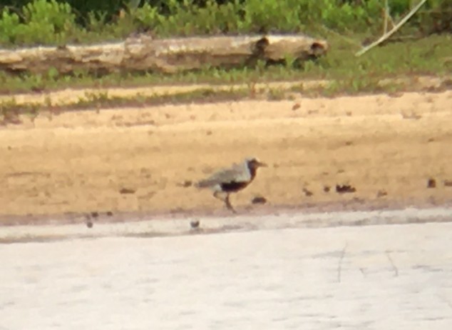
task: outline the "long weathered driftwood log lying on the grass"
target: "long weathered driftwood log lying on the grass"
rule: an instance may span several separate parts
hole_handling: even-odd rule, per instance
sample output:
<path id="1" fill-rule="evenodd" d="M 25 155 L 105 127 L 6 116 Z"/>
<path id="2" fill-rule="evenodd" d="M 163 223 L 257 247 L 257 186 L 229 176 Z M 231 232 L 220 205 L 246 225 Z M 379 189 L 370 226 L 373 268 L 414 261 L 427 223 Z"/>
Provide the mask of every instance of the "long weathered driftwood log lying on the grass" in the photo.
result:
<path id="1" fill-rule="evenodd" d="M 0 70 L 13 74 L 46 73 L 51 68 L 61 74 L 76 69 L 175 73 L 206 66 L 252 65 L 257 59 L 279 62 L 287 56 L 304 61 L 321 56 L 327 49 L 327 41 L 300 34 L 176 39 L 154 39 L 140 34 L 111 44 L 0 49 Z"/>

